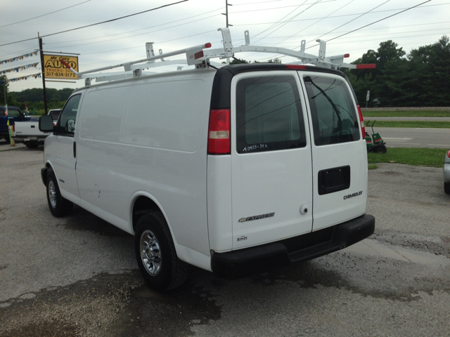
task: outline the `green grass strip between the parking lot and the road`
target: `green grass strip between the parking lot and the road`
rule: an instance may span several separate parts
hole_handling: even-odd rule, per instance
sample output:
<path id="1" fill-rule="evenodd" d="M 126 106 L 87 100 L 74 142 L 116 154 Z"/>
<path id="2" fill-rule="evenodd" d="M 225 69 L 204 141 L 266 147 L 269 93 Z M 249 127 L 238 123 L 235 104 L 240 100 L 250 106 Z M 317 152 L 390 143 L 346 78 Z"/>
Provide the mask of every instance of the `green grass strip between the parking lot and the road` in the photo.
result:
<path id="1" fill-rule="evenodd" d="M 376 169 L 378 163 L 394 162 L 415 166 L 444 166 L 444 156 L 449 149 L 425 149 L 418 147 L 389 147 L 385 154 L 368 152 L 368 164 Z"/>

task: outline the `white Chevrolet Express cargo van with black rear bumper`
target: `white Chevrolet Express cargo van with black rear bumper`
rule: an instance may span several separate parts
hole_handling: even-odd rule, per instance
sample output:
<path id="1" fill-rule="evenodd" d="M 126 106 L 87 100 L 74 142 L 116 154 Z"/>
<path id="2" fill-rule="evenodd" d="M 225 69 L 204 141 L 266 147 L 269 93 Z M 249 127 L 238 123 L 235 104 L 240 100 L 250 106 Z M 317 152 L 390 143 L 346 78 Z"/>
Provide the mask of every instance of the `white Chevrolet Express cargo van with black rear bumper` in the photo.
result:
<path id="1" fill-rule="evenodd" d="M 342 72 L 196 68 L 89 85 L 54 128 L 41 117 L 54 216 L 77 204 L 134 234 L 158 291 L 188 264 L 239 277 L 373 233 L 364 124 Z"/>

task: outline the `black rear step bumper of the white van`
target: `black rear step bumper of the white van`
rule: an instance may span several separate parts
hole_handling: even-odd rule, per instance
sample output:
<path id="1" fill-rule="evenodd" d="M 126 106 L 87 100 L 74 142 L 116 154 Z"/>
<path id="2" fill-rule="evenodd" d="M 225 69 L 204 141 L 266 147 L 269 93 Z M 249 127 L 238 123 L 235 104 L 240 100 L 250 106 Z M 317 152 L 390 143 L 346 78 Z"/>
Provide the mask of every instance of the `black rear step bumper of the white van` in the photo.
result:
<path id="1" fill-rule="evenodd" d="M 374 230 L 375 217 L 364 214 L 345 223 L 298 237 L 227 253 L 214 253 L 212 272 L 224 279 L 265 272 L 333 253 L 370 237 Z"/>

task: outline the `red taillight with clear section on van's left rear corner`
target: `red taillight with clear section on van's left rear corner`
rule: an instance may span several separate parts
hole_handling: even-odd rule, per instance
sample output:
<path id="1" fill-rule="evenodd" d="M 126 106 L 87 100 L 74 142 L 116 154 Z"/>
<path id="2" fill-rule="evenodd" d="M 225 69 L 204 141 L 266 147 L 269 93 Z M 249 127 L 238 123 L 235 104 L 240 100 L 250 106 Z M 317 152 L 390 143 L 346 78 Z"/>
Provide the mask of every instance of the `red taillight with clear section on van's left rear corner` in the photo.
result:
<path id="1" fill-rule="evenodd" d="M 211 110 L 208 154 L 230 154 L 230 110 Z"/>

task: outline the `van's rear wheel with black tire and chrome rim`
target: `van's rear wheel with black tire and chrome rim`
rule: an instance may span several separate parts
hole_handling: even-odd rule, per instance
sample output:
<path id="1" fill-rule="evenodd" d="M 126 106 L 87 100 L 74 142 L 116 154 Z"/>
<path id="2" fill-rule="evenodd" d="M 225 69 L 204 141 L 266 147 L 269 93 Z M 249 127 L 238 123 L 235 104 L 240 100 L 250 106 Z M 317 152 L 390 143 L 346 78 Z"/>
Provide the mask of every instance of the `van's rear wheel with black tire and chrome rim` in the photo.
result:
<path id="1" fill-rule="evenodd" d="M 167 291 L 186 281 L 188 264 L 176 256 L 172 235 L 161 212 L 146 213 L 138 220 L 134 251 L 139 270 L 150 288 Z"/>

